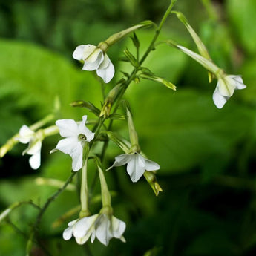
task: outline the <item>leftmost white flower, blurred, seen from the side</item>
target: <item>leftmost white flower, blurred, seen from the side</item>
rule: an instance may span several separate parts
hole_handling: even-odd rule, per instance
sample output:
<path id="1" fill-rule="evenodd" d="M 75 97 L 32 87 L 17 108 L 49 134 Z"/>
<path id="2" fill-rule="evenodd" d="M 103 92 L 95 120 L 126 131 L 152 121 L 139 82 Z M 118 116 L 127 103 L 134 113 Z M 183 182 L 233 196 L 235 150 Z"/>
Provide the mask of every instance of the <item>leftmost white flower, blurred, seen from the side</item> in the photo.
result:
<path id="1" fill-rule="evenodd" d="M 22 125 L 19 129 L 19 137 L 17 138 L 19 142 L 23 144 L 29 143 L 26 150 L 22 154 L 30 154 L 29 163 L 31 168 L 34 170 L 38 169 L 41 165 L 41 147 L 43 134 L 40 131 L 35 132 L 30 130 L 27 125 Z"/>

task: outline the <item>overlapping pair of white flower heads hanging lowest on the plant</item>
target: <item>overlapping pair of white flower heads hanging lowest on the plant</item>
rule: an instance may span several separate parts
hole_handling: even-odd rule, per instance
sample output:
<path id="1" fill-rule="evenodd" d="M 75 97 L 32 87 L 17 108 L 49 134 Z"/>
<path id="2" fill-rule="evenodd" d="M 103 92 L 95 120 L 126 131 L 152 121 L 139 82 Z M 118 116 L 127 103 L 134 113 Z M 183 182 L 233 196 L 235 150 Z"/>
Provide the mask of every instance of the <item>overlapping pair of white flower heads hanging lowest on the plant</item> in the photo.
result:
<path id="1" fill-rule="evenodd" d="M 76 238 L 76 243 L 84 244 L 90 236 L 91 243 L 97 237 L 99 242 L 108 246 L 109 240 L 113 237 L 125 242 L 125 238 L 122 236 L 125 227 L 125 223 L 113 215 L 94 214 L 68 223 L 68 229 L 63 232 L 63 238 L 69 240 L 73 235 Z"/>

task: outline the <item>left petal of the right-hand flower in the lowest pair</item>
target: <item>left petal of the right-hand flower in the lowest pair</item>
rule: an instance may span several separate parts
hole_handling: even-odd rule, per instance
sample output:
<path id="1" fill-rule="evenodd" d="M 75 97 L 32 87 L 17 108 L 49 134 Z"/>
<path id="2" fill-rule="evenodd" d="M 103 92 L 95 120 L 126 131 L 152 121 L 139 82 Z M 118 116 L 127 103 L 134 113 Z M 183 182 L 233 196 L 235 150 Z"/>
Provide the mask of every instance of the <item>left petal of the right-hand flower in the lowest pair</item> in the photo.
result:
<path id="1" fill-rule="evenodd" d="M 99 219 L 99 226 L 96 226 L 96 237 L 100 243 L 108 246 L 109 240 L 113 237 L 110 230 L 111 221 L 108 219 L 106 214 L 101 214 Z"/>

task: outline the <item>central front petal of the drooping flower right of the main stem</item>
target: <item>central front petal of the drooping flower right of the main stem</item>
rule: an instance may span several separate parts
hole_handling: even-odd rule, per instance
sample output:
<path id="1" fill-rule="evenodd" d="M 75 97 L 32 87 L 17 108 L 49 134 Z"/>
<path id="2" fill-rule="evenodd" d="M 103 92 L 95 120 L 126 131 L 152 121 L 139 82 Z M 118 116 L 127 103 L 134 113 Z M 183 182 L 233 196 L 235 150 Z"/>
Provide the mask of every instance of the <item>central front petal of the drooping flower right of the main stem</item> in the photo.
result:
<path id="1" fill-rule="evenodd" d="M 136 183 L 145 172 L 145 161 L 140 154 L 132 155 L 127 165 L 127 172 L 131 177 L 131 181 Z"/>

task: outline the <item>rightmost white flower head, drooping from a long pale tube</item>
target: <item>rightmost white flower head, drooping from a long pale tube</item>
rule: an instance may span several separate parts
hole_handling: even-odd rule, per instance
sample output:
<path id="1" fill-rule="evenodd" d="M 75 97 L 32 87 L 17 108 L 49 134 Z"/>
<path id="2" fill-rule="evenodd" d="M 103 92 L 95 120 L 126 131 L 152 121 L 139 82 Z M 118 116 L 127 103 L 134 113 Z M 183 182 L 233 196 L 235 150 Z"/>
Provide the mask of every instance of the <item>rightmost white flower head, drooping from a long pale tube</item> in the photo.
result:
<path id="1" fill-rule="evenodd" d="M 218 79 L 217 86 L 213 93 L 214 104 L 217 108 L 223 108 L 226 101 L 233 95 L 234 90 L 246 88 L 241 76 L 227 75 Z"/>

